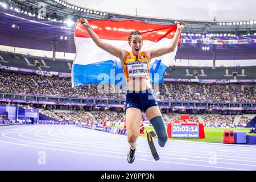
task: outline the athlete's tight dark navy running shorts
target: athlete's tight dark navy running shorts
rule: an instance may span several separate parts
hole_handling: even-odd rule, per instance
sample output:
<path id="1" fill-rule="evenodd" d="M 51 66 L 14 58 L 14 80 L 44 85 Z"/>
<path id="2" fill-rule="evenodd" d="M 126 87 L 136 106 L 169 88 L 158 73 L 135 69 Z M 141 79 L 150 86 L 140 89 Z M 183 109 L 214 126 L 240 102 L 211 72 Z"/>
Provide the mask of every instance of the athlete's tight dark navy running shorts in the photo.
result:
<path id="1" fill-rule="evenodd" d="M 146 110 L 152 106 L 158 106 L 158 103 L 152 94 L 152 89 L 127 91 L 125 109 L 134 107 L 146 112 Z"/>

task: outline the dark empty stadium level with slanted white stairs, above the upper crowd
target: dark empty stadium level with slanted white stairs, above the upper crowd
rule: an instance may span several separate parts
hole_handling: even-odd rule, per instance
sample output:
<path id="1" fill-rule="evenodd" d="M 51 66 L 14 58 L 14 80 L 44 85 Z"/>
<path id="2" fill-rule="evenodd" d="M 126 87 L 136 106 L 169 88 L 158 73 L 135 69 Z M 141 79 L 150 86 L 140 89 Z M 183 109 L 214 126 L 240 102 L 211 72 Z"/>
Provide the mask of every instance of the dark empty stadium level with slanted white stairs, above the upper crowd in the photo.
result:
<path id="1" fill-rule="evenodd" d="M 39 65 L 35 65 L 38 60 Z M 177 65 L 180 60 L 174 61 Z M 203 60 L 202 60 L 203 61 Z M 7 67 L 34 69 L 48 72 L 71 73 L 72 61 L 52 61 L 45 57 L 32 57 L 26 55 L 14 55 L 13 53 L 0 52 L 0 65 Z M 194 75 L 197 71 L 198 75 Z M 237 76 L 233 75 L 237 72 Z M 183 79 L 256 79 L 255 66 L 252 67 L 169 67 L 164 74 L 164 78 L 183 78 Z"/>

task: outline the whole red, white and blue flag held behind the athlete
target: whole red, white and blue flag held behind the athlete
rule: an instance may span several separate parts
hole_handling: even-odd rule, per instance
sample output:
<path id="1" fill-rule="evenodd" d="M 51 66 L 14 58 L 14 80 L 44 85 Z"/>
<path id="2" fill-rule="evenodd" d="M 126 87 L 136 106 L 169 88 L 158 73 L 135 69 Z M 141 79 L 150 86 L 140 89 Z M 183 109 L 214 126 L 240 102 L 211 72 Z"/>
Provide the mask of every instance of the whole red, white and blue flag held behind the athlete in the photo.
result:
<path id="1" fill-rule="evenodd" d="M 96 46 L 86 28 L 77 20 L 75 24 L 76 56 L 72 66 L 72 87 L 85 84 L 122 84 L 126 85 L 121 61 L 118 57 Z M 148 48 L 168 46 L 176 32 L 176 25 L 159 25 L 137 22 L 135 20 L 88 20 L 90 26 L 102 41 L 130 51 L 128 36 L 131 31 L 141 31 L 142 51 Z M 181 36 L 179 37 L 178 46 Z M 174 52 L 150 61 L 152 84 L 162 83 L 163 75 L 172 64 Z"/>

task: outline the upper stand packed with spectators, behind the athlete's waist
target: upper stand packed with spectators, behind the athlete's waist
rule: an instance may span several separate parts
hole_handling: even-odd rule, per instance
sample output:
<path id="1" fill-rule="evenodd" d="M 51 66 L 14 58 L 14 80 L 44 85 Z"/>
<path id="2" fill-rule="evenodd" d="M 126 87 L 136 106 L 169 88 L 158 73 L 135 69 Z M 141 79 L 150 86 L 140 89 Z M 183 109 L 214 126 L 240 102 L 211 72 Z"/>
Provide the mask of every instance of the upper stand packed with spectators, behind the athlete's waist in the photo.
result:
<path id="1" fill-rule="evenodd" d="M 70 77 L 22 75 L 0 72 L 0 92 L 48 94 L 63 97 L 100 97 L 125 100 L 126 86 L 71 86 Z M 158 100 L 252 101 L 256 102 L 255 85 L 220 85 L 166 82 L 154 90 Z"/>

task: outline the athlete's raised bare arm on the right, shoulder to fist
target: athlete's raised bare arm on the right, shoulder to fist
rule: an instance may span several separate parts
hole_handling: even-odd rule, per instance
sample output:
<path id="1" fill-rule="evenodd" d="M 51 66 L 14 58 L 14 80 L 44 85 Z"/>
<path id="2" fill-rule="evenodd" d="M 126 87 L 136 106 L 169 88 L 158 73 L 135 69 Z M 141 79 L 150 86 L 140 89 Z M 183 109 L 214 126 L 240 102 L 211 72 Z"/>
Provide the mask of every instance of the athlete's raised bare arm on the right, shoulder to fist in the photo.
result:
<path id="1" fill-rule="evenodd" d="M 177 46 L 177 42 L 179 40 L 181 30 L 184 28 L 184 26 L 185 26 L 184 22 L 178 23 L 177 24 L 177 30 L 175 32 L 174 38 L 172 39 L 170 45 L 167 46 L 167 47 L 159 47 L 159 48 L 148 49 L 148 50 L 145 51 L 147 56 L 150 59 L 152 59 L 154 57 L 163 56 L 163 55 L 166 55 L 167 53 L 170 53 L 170 52 L 174 51 L 176 46 Z"/>

